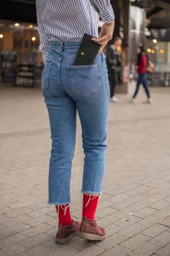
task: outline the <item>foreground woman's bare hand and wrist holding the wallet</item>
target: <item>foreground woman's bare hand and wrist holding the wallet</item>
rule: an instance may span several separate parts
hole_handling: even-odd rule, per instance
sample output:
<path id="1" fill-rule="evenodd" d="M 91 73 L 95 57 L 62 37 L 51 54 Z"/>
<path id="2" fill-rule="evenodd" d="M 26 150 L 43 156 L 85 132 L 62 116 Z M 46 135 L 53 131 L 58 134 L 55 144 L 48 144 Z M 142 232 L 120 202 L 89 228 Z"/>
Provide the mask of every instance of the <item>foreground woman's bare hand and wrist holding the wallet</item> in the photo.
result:
<path id="1" fill-rule="evenodd" d="M 114 20 L 109 23 L 104 23 L 104 25 L 101 27 L 101 31 L 100 31 L 98 38 L 93 37 L 91 39 L 94 42 L 97 42 L 99 45 L 101 45 L 101 48 L 98 51 L 98 54 L 101 53 L 101 51 L 104 49 L 105 45 L 107 45 L 107 42 L 109 42 L 109 40 L 112 39 L 114 28 L 115 28 Z"/>

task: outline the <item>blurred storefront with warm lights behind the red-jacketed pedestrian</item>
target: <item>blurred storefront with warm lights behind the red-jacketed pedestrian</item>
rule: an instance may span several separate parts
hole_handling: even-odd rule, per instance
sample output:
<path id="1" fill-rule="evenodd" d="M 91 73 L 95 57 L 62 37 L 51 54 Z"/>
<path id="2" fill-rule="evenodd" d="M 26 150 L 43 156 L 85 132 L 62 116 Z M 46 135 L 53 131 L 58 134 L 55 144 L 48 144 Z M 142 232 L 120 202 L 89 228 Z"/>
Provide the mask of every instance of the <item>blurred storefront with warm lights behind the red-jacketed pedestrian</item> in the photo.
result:
<path id="1" fill-rule="evenodd" d="M 140 3 L 141 4 L 141 3 Z M 129 15 L 130 78 L 136 76 L 136 48 L 144 45 L 147 56 L 154 64 L 148 73 L 150 86 L 170 86 L 170 2 L 131 1 Z"/>

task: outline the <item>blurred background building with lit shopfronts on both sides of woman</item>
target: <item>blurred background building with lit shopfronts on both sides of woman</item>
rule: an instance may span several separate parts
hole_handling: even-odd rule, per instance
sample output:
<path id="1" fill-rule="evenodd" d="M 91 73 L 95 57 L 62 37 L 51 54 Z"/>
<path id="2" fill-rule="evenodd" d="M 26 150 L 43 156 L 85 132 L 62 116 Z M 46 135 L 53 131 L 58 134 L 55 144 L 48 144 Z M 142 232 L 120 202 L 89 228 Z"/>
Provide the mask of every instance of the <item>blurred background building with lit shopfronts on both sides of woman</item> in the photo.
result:
<path id="1" fill-rule="evenodd" d="M 123 47 L 119 49 L 123 65 L 117 91 L 127 92 L 129 78 L 135 79 L 136 48 L 141 44 L 155 64 L 154 72 L 148 75 L 150 86 L 170 86 L 170 1 L 111 0 L 111 3 L 115 10 L 113 39 L 117 36 L 123 39 Z M 101 26 L 102 22 L 98 30 Z M 0 53 L 1 84 L 40 86 L 43 61 L 35 0 L 1 0 Z"/>

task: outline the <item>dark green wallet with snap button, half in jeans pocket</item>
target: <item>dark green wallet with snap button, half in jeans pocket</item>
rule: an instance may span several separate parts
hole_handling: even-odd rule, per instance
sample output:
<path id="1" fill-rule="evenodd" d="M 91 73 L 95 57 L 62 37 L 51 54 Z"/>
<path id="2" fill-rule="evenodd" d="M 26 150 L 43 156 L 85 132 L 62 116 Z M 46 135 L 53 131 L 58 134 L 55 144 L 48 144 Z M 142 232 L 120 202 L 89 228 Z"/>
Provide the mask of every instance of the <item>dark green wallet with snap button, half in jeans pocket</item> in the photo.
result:
<path id="1" fill-rule="evenodd" d="M 101 48 L 97 42 L 92 41 L 93 36 L 90 34 L 84 34 L 80 47 L 77 50 L 77 56 L 74 59 L 73 66 L 82 66 L 82 65 L 93 65 L 94 60 L 98 54 L 98 50 Z"/>

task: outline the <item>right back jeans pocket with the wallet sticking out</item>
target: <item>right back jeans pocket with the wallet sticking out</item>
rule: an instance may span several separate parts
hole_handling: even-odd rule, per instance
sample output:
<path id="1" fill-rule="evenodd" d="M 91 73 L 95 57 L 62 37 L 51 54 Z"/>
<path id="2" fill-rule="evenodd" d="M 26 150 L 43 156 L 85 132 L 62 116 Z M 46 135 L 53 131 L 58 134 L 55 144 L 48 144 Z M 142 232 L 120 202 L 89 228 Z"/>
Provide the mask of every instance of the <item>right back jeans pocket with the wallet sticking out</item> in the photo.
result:
<path id="1" fill-rule="evenodd" d="M 69 66 L 67 69 L 73 93 L 90 96 L 101 90 L 101 74 L 98 63 Z"/>

